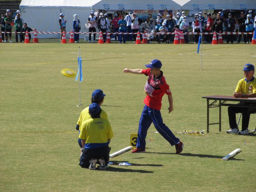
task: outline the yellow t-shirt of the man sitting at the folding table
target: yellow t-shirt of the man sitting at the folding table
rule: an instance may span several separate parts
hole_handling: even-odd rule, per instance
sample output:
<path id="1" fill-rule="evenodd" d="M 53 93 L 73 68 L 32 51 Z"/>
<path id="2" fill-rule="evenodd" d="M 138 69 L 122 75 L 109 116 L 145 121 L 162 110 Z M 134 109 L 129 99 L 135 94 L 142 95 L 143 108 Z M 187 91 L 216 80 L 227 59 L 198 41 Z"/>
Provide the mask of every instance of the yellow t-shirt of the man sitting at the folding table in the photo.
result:
<path id="1" fill-rule="evenodd" d="M 253 81 L 249 81 L 249 82 L 246 82 L 245 79 L 246 78 L 238 81 L 235 92 L 242 93 L 242 94 L 256 93 L 256 78 L 254 78 Z"/>

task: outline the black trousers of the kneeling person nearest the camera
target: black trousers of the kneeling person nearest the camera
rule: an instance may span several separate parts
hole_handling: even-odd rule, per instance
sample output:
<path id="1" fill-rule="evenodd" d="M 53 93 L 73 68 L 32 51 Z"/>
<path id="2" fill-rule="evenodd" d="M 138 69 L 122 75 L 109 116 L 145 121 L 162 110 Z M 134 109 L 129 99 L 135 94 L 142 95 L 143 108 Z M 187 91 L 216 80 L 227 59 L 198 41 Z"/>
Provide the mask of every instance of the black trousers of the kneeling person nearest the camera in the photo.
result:
<path id="1" fill-rule="evenodd" d="M 100 148 L 95 148 L 95 149 L 85 148 L 80 157 L 79 165 L 83 168 L 88 168 L 90 166 L 89 160 L 91 160 L 92 158 L 100 158 L 100 157 L 104 158 L 105 165 L 107 165 L 109 161 L 109 151 L 110 151 L 110 148 L 108 145 Z"/>

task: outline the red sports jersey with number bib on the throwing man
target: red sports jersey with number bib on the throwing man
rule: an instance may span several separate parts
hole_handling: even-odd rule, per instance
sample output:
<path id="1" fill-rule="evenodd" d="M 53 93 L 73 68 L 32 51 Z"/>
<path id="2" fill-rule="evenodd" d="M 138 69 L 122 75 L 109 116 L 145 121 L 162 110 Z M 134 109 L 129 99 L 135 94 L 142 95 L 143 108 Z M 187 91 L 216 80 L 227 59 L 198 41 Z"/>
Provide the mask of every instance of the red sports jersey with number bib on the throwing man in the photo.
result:
<path id="1" fill-rule="evenodd" d="M 150 108 L 160 110 L 162 107 L 162 97 L 164 94 L 171 94 L 171 90 L 165 81 L 163 72 L 161 71 L 161 75 L 157 78 L 155 78 L 154 75 L 150 73 L 150 68 L 142 70 L 142 73 L 148 76 L 148 80 L 145 85 L 145 91 L 150 94 L 146 96 L 144 103 Z"/>

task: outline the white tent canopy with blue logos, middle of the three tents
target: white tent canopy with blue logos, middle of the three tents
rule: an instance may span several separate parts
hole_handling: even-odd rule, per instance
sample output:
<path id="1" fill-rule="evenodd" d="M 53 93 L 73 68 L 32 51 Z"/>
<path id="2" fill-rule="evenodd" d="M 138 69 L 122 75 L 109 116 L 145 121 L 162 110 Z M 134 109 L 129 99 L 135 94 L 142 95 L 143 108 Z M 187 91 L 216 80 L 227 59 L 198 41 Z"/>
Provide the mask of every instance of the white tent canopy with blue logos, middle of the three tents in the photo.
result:
<path id="1" fill-rule="evenodd" d="M 103 10 L 173 10 L 181 5 L 172 0 L 101 0 L 92 6 Z"/>

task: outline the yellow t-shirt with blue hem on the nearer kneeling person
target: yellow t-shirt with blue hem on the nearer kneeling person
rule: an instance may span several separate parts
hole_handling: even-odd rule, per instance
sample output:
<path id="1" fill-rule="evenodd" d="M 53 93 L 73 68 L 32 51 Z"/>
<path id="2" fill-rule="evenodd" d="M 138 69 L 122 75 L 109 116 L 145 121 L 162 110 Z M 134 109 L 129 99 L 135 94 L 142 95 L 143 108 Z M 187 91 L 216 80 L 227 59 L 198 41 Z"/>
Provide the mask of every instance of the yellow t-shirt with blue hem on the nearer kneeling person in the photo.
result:
<path id="1" fill-rule="evenodd" d="M 80 126 L 79 138 L 85 140 L 85 148 L 99 148 L 108 145 L 113 131 L 108 120 L 94 118 L 86 120 Z"/>

